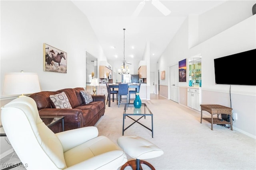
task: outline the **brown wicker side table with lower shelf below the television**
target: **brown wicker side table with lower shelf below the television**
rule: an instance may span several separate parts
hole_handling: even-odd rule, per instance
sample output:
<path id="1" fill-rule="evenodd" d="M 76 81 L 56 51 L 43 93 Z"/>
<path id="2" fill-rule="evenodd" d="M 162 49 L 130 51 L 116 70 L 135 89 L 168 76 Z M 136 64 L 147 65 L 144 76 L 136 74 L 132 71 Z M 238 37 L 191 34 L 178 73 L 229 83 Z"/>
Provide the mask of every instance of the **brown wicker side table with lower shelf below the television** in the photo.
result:
<path id="1" fill-rule="evenodd" d="M 217 104 L 213 104 L 213 105 L 212 104 L 201 104 L 200 106 L 201 106 L 201 121 L 200 121 L 200 123 L 202 123 L 202 119 L 208 121 L 209 123 L 212 124 L 212 130 L 213 130 L 213 124 L 230 124 L 231 130 L 233 130 L 232 108 L 217 105 Z M 203 110 L 210 113 L 212 117 L 211 118 L 202 117 Z M 219 118 L 213 118 L 213 115 L 216 115 L 216 114 L 230 115 L 230 122 L 224 121 L 223 119 L 219 119 Z"/>

